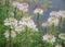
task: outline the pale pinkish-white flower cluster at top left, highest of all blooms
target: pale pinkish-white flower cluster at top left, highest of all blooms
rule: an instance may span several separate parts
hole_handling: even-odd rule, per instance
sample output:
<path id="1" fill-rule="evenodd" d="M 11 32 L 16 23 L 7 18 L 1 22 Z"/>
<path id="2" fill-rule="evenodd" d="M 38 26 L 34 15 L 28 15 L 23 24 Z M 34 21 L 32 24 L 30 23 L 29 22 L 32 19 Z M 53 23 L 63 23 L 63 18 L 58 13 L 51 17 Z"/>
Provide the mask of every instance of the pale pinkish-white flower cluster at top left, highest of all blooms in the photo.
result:
<path id="1" fill-rule="evenodd" d="M 13 1 L 13 7 L 16 7 L 20 11 L 27 12 L 29 5 L 27 2 L 20 3 L 20 2 Z"/>

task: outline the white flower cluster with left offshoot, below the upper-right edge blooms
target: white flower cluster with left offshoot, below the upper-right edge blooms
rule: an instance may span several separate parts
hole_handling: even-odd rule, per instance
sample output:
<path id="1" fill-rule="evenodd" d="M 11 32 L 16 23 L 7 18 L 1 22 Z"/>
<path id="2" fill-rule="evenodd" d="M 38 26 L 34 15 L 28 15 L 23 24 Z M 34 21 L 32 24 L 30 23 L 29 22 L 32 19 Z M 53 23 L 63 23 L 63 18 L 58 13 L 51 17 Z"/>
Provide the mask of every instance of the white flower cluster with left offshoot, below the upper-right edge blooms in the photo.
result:
<path id="1" fill-rule="evenodd" d="M 50 16 L 46 23 L 42 23 L 42 26 L 50 26 L 54 24 L 54 26 L 58 25 L 60 20 L 55 16 Z"/>

